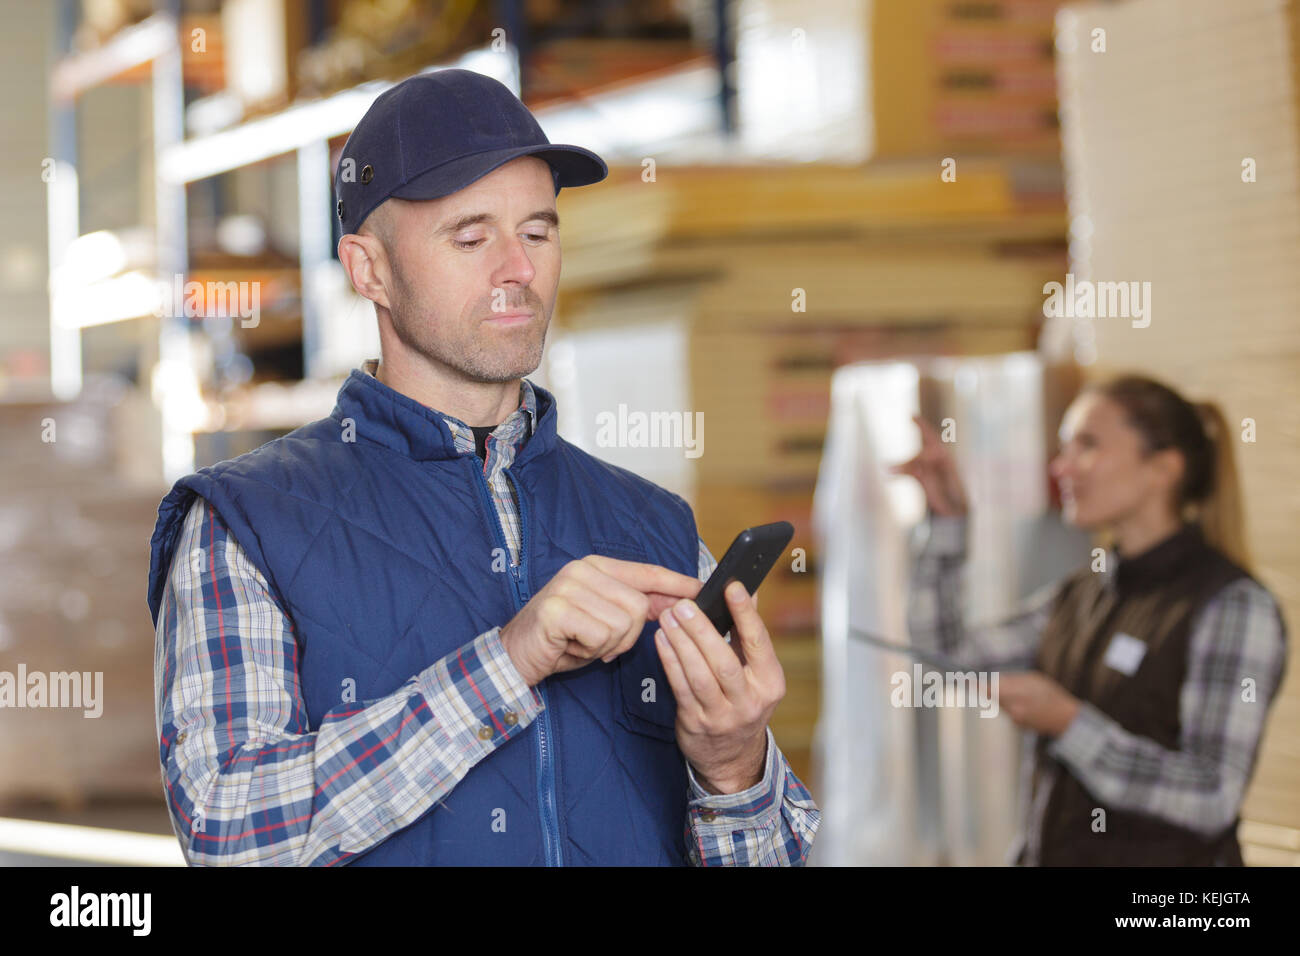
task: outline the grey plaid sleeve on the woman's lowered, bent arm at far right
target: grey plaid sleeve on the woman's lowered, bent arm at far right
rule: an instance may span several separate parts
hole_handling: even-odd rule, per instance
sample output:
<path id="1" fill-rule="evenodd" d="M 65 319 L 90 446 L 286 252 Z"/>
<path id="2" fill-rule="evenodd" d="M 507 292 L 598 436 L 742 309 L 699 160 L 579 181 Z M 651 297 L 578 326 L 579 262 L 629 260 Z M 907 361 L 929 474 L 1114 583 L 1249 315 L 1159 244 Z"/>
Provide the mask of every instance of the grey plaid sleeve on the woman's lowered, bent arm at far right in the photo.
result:
<path id="1" fill-rule="evenodd" d="M 1048 752 L 1097 800 L 1216 836 L 1240 812 L 1286 657 L 1273 596 L 1251 579 L 1234 581 L 1192 630 L 1176 750 L 1083 702 Z"/>

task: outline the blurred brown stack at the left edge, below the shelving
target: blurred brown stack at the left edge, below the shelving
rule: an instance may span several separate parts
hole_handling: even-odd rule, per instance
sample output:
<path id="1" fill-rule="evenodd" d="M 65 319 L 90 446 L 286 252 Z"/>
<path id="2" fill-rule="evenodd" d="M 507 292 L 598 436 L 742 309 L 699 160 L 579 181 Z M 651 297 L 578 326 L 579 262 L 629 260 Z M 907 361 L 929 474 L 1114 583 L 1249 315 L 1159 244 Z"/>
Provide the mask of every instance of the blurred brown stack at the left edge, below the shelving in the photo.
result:
<path id="1" fill-rule="evenodd" d="M 165 489 L 118 464 L 157 433 L 135 398 L 0 405 L 0 671 L 75 671 L 101 689 L 91 708 L 0 709 L 5 805 L 161 797 L 144 591 Z"/>

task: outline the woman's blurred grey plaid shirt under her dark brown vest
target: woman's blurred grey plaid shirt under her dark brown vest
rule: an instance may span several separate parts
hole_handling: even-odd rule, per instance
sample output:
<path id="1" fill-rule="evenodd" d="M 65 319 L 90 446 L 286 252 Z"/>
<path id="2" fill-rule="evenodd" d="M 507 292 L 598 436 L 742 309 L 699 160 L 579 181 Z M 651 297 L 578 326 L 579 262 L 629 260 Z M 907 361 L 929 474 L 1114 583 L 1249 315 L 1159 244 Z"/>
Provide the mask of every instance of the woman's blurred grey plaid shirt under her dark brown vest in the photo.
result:
<path id="1" fill-rule="evenodd" d="M 966 520 L 931 515 L 914 550 L 907 628 L 918 646 L 940 649 L 971 669 L 1028 670 L 1052 614 L 1060 584 L 1031 594 L 1009 618 L 966 628 L 961 572 L 966 561 Z M 1115 554 L 1098 571 L 1114 587 Z M 1112 806 L 1145 813 L 1206 838 L 1228 827 L 1242 806 L 1254 767 L 1269 704 L 1286 666 L 1286 630 L 1273 596 L 1243 578 L 1226 585 L 1197 615 L 1179 697 L 1179 747 L 1170 750 L 1130 734 L 1096 706 L 1079 713 L 1048 745 L 1089 793 Z M 1242 700 L 1240 678 L 1257 680 L 1257 701 Z M 1020 805 L 1034 774 L 1034 735 L 1022 760 Z M 1050 778 L 1048 778 L 1050 779 Z M 1052 787 L 1040 787 L 1027 808 L 1009 861 L 1020 849 L 1023 865 L 1037 864 L 1037 839 Z"/>

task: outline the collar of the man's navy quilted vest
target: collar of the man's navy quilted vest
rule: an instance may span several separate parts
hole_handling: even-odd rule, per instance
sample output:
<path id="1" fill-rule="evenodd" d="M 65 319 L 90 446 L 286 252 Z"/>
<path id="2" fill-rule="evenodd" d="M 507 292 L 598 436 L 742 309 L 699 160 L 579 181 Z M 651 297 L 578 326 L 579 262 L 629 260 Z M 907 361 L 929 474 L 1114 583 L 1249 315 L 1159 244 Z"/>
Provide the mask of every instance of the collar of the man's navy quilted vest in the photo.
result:
<path id="1" fill-rule="evenodd" d="M 528 382 L 537 402 L 533 434 L 515 458 L 521 464 L 528 458 L 546 454 L 555 444 L 555 395 L 536 382 Z M 460 458 L 455 436 L 442 412 L 385 385 L 373 375 L 354 368 L 338 390 L 330 418 L 351 419 L 356 441 L 382 445 L 416 462 Z M 473 451 L 469 453 L 473 455 Z"/>

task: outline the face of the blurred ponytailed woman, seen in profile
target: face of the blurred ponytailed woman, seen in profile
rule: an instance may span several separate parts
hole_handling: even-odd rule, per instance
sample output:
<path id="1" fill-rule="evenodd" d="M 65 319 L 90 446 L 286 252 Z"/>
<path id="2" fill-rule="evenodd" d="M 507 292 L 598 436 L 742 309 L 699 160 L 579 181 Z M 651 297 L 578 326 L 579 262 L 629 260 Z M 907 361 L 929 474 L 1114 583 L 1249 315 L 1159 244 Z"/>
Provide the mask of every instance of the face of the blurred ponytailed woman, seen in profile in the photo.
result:
<path id="1" fill-rule="evenodd" d="M 1079 395 L 1061 421 L 1060 438 L 1050 468 L 1070 524 L 1096 531 L 1147 510 L 1173 510 L 1179 453 L 1144 455 L 1141 436 L 1114 401 L 1095 392 Z"/>

